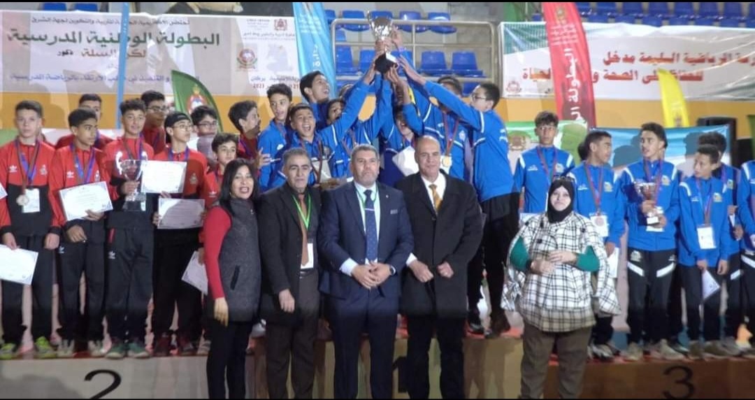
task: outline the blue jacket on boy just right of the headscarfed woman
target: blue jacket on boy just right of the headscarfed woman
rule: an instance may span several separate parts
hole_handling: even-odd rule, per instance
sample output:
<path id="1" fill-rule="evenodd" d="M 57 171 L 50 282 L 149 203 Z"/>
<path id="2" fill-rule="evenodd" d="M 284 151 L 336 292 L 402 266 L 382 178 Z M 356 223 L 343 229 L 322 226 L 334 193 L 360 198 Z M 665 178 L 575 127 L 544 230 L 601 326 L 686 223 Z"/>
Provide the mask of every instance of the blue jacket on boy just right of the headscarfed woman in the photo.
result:
<path id="1" fill-rule="evenodd" d="M 588 174 L 590 180 L 587 179 Z M 574 211 L 588 218 L 595 216 L 596 198 L 599 198 L 600 214 L 606 217 L 609 224 L 606 243 L 611 242 L 618 247 L 621 235 L 624 235 L 624 198 L 618 186 L 615 186 L 614 171 L 608 165 L 595 167 L 583 162 L 573 168 L 569 176 L 575 180 Z"/>

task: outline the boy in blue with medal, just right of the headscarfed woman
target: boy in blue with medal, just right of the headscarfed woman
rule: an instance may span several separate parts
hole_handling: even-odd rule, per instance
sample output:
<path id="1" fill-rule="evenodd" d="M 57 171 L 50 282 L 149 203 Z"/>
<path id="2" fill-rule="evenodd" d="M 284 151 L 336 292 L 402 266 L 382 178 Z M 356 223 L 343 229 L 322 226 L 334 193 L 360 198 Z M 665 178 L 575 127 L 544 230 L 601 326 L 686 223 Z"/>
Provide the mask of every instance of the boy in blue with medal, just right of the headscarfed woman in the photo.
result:
<path id="1" fill-rule="evenodd" d="M 616 279 L 619 245 L 621 235 L 624 235 L 624 204 L 615 188 L 614 171 L 609 165 L 612 155 L 611 134 L 606 131 L 590 131 L 582 146 L 587 153 L 584 162 L 569 172 L 569 177 L 575 182 L 574 211 L 590 218 L 602 236 L 609 256 L 610 273 Z M 610 344 L 613 337 L 612 321 L 612 316 L 596 316 L 590 350 L 597 358 L 609 360 L 614 357 L 614 349 Z"/>

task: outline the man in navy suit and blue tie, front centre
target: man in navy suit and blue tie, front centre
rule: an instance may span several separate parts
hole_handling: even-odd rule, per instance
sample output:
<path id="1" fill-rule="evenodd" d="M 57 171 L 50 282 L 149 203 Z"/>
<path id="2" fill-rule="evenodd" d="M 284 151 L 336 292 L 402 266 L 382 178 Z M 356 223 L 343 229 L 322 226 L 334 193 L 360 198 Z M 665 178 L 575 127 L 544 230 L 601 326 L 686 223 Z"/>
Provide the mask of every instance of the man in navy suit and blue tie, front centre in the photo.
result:
<path id="1" fill-rule="evenodd" d="M 372 398 L 393 394 L 393 342 L 400 278 L 414 241 L 402 192 L 376 183 L 377 149 L 351 153 L 353 183 L 325 192 L 319 248 L 335 346 L 334 397 L 356 398 L 359 342 L 370 340 Z"/>

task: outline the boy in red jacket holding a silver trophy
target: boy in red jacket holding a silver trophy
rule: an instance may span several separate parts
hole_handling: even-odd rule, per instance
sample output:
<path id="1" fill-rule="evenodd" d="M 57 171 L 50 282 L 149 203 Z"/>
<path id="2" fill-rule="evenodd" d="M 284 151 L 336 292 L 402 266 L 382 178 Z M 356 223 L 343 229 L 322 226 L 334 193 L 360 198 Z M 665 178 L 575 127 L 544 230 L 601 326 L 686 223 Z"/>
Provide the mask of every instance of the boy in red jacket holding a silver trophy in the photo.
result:
<path id="1" fill-rule="evenodd" d="M 141 134 L 146 106 L 138 99 L 119 106 L 123 137 L 105 147 L 110 183 L 116 187 L 107 217 L 108 266 L 105 314 L 112 345 L 106 358 L 149 358 L 144 337 L 152 297 L 153 215 L 156 195 L 139 192 L 140 168 L 155 157 Z"/>

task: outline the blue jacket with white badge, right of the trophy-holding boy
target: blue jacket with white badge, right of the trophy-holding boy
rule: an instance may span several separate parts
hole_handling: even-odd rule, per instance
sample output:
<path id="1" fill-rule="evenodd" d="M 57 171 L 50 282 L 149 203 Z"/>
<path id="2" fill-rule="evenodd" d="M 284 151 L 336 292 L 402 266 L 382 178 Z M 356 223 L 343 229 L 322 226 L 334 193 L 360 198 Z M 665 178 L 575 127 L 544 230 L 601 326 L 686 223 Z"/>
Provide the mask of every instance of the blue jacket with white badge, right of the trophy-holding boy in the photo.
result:
<path id="1" fill-rule="evenodd" d="M 707 180 L 688 177 L 679 186 L 681 208 L 679 240 L 679 262 L 683 266 L 695 267 L 701 260 L 707 260 L 710 268 L 716 268 L 720 260 L 728 260 L 731 247 L 729 231 L 729 205 L 724 199 L 724 184 L 721 180 Z M 704 214 L 708 214 L 708 220 Z M 703 250 L 698 239 L 698 229 L 707 223 L 713 228 L 715 248 Z"/>

